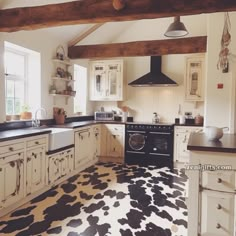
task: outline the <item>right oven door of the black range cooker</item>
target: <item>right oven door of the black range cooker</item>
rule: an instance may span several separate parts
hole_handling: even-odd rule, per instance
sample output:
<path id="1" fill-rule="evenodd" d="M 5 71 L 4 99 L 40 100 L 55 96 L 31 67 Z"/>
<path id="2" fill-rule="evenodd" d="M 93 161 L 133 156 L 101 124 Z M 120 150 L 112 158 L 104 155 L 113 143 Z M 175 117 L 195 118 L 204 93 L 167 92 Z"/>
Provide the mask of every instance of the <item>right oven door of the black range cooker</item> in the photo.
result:
<path id="1" fill-rule="evenodd" d="M 173 133 L 149 132 L 148 154 L 162 157 L 173 157 Z"/>

